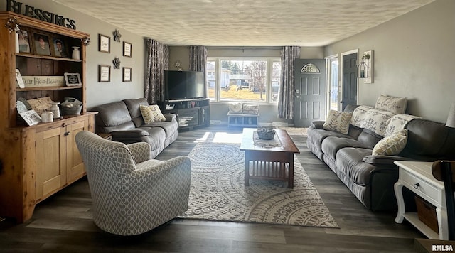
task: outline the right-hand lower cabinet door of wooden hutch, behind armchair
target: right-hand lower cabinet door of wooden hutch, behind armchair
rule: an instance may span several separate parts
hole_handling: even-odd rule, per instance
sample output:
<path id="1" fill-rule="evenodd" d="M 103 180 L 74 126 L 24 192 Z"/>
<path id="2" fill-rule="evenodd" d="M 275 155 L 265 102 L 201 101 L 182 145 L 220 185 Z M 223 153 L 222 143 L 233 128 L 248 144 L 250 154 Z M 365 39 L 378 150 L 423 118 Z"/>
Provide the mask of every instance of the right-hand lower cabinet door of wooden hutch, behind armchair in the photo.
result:
<path id="1" fill-rule="evenodd" d="M 88 129 L 88 120 L 66 126 L 66 181 L 72 183 L 85 173 L 82 156 L 77 149 L 75 136 L 78 132 Z"/>

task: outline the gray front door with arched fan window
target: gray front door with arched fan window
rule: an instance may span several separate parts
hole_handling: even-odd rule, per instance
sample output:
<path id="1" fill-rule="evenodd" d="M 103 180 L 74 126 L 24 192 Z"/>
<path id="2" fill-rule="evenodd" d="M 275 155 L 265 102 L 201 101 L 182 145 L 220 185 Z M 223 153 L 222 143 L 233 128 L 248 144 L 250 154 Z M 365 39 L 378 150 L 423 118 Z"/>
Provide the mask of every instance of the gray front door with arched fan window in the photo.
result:
<path id="1" fill-rule="evenodd" d="M 326 60 L 297 59 L 294 73 L 294 126 L 308 127 L 326 117 Z"/>

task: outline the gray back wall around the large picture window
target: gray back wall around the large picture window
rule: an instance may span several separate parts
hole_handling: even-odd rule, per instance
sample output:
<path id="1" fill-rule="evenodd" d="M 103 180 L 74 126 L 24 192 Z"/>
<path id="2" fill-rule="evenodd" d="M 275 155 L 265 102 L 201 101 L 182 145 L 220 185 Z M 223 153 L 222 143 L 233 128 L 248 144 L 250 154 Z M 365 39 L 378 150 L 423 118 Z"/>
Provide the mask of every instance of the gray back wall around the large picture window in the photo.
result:
<path id="1" fill-rule="evenodd" d="M 189 49 L 182 46 L 169 47 L 169 69 L 177 70 L 174 63 L 180 60 L 183 70 L 189 68 Z M 235 47 L 235 48 L 208 48 L 208 57 L 280 57 L 281 47 L 274 48 L 253 48 L 253 47 Z M 323 48 L 308 47 L 301 48 L 300 58 L 323 58 Z M 228 104 L 229 102 L 212 102 L 210 103 L 210 122 L 212 124 L 228 124 Z M 277 104 L 261 103 L 259 105 L 259 124 L 269 126 L 272 122 L 281 124 L 294 124 L 293 121 L 279 119 Z"/>

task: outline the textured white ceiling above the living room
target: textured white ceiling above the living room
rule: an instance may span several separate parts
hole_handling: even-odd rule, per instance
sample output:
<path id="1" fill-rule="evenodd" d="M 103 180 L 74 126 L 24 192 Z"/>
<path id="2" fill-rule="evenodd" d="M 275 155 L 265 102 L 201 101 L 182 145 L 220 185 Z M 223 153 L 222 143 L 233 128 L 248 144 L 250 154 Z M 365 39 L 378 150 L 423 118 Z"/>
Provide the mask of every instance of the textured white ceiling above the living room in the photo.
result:
<path id="1" fill-rule="evenodd" d="M 54 0 L 167 45 L 323 46 L 434 0 Z"/>

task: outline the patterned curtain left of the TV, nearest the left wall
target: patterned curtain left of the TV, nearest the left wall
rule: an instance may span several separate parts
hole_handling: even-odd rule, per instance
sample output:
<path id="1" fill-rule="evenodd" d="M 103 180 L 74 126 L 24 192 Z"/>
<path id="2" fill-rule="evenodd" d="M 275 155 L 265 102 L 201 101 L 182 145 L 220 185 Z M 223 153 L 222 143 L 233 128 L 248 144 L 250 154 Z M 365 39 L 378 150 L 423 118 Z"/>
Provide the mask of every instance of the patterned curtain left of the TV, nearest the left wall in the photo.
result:
<path id="1" fill-rule="evenodd" d="M 146 39 L 145 91 L 149 104 L 156 104 L 164 99 L 164 70 L 169 68 L 169 47 Z"/>

